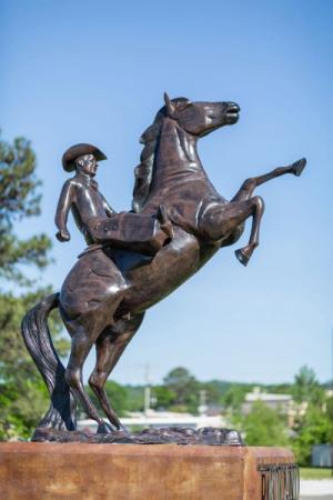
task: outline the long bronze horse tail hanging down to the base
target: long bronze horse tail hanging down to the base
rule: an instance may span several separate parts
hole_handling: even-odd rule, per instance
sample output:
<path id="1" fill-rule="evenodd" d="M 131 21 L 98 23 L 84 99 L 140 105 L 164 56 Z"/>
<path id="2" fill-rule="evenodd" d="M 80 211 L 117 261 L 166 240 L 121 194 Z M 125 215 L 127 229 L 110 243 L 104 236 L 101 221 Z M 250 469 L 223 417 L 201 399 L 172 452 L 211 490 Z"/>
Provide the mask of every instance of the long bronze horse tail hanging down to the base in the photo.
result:
<path id="1" fill-rule="evenodd" d="M 48 317 L 59 307 L 59 293 L 46 297 L 34 308 L 27 312 L 22 320 L 21 331 L 27 349 L 39 369 L 51 397 L 51 406 L 40 427 L 75 429 L 75 421 L 71 412 L 73 397 L 64 380 L 64 367 L 54 349 Z"/>

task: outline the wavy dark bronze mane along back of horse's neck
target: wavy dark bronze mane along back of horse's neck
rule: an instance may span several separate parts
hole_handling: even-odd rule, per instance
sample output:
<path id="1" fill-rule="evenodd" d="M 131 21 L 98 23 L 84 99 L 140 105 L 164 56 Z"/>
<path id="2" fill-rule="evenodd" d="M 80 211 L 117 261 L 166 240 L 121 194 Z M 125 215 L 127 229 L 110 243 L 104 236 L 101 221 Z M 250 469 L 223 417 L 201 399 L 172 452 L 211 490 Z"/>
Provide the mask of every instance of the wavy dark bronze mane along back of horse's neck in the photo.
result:
<path id="1" fill-rule="evenodd" d="M 189 103 L 189 99 L 175 98 L 172 99 L 172 102 L 176 107 L 181 107 L 184 103 Z M 164 118 L 167 117 L 168 110 L 164 106 L 159 110 L 153 123 L 144 130 L 140 138 L 140 142 L 144 146 L 140 154 L 140 164 L 134 169 L 135 183 L 132 201 L 132 210 L 134 212 L 140 212 L 142 210 L 143 204 L 150 193 L 155 151 L 161 134 L 162 123 Z"/>

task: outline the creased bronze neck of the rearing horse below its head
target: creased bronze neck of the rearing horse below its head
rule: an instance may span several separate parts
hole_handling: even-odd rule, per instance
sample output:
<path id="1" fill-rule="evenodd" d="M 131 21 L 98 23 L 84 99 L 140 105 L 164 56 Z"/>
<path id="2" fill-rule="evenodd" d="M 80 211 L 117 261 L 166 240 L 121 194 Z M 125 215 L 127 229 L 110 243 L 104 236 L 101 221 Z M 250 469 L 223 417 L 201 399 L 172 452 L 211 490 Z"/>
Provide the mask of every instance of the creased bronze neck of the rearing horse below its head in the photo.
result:
<path id="1" fill-rule="evenodd" d="M 152 190 L 179 188 L 183 182 L 206 179 L 196 151 L 196 139 L 181 129 L 174 120 L 162 123 L 155 153 Z"/>

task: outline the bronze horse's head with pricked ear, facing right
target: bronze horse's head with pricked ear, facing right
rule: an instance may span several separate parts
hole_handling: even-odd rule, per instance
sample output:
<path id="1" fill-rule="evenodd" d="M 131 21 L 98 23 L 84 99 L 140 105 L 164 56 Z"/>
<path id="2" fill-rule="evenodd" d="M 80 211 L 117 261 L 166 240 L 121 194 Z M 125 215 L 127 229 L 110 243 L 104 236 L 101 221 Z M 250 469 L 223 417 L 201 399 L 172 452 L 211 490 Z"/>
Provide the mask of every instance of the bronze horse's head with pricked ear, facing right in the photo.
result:
<path id="1" fill-rule="evenodd" d="M 161 111 L 196 138 L 239 120 L 240 107 L 235 102 L 192 102 L 185 98 L 170 99 L 168 93 L 164 102 Z"/>

